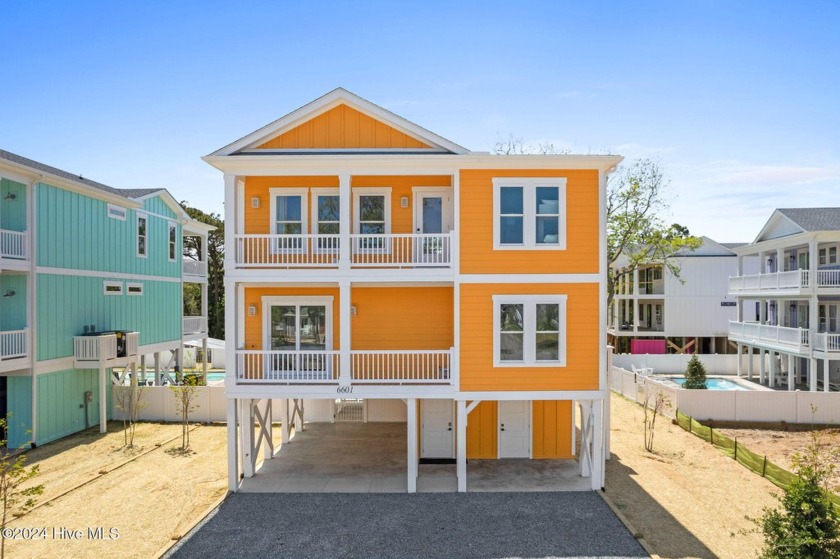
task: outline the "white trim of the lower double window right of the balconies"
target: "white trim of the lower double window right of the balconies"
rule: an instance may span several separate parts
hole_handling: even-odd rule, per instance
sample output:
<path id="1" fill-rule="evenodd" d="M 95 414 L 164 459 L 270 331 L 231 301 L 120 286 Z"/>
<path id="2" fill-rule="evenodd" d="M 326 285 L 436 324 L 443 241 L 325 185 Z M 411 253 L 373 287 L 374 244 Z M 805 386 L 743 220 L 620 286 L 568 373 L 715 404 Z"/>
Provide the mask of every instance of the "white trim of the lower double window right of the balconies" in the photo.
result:
<path id="1" fill-rule="evenodd" d="M 493 367 L 565 367 L 566 366 L 566 339 L 568 324 L 566 321 L 567 295 L 493 295 Z M 558 305 L 557 321 L 560 325 L 558 337 L 560 338 L 559 359 L 556 361 L 537 361 L 536 358 L 536 336 L 537 317 L 536 306 L 539 304 Z M 502 361 L 499 355 L 501 350 L 499 344 L 499 333 L 501 328 L 500 305 L 523 305 L 525 316 L 523 317 L 522 330 L 522 361 Z"/>

